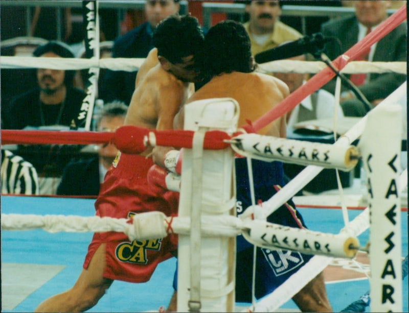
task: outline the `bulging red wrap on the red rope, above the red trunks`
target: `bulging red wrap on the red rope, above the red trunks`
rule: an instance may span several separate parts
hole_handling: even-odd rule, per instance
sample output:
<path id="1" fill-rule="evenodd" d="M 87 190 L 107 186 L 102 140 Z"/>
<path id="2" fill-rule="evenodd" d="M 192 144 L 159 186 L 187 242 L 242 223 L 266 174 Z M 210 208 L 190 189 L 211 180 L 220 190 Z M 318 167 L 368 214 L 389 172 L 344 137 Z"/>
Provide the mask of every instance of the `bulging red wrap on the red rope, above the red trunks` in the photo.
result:
<path id="1" fill-rule="evenodd" d="M 148 134 L 147 128 L 122 126 L 116 130 L 113 144 L 123 153 L 138 154 L 146 150 L 144 139 Z"/>

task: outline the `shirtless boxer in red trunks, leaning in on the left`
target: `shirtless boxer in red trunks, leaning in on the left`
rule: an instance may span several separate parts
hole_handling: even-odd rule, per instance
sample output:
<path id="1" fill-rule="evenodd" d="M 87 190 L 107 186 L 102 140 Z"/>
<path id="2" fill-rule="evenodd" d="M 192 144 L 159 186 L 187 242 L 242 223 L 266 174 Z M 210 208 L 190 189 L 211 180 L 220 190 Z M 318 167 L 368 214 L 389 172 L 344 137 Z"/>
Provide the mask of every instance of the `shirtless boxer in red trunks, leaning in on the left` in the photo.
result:
<path id="1" fill-rule="evenodd" d="M 173 117 L 187 99 L 188 85 L 195 79 L 194 56 L 201 49 L 203 34 L 192 16 L 170 16 L 153 35 L 158 63 L 140 76 L 125 125 L 172 129 Z M 134 213 L 177 210 L 177 194 L 155 195 L 147 186 L 147 172 L 153 165 L 146 156 L 118 154 L 105 176 L 95 202 L 98 216 L 129 218 Z M 93 307 L 113 280 L 148 281 L 157 264 L 172 256 L 176 246 L 163 239 L 130 242 L 123 233 L 95 233 L 88 247 L 83 270 L 68 291 L 43 301 L 36 311 L 74 312 Z"/>

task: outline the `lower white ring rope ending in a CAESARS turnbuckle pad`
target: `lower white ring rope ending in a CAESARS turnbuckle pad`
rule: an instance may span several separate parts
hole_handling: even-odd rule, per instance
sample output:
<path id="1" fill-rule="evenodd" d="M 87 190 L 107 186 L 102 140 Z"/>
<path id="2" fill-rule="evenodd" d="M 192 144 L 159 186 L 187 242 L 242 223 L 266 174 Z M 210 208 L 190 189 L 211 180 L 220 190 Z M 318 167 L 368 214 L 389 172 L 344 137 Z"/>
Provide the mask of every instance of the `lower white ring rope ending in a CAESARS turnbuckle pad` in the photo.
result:
<path id="1" fill-rule="evenodd" d="M 235 216 L 202 215 L 201 237 L 237 236 L 268 249 L 286 249 L 306 254 L 333 257 L 355 256 L 358 240 L 348 233 L 330 234 L 284 227 L 262 220 L 241 220 Z M 107 232 L 125 233 L 132 240 L 163 238 L 169 233 L 190 234 L 189 217 L 169 218 L 163 212 L 139 213 L 129 219 L 99 216 L 2 214 L 2 230 L 43 229 L 47 232 Z M 288 238 L 288 240 L 287 240 Z M 355 248 L 351 248 L 353 245 Z"/>

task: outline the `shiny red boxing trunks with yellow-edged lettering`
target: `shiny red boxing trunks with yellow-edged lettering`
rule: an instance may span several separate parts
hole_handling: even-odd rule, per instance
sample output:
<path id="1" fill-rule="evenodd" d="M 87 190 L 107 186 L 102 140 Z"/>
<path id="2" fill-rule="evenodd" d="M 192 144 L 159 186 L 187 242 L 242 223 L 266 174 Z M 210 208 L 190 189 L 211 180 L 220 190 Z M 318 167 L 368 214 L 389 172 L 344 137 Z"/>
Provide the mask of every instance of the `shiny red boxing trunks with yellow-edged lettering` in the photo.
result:
<path id="1" fill-rule="evenodd" d="M 95 202 L 96 215 L 120 219 L 148 211 L 162 211 L 168 216 L 177 213 L 178 192 L 168 191 L 158 197 L 149 189 L 147 173 L 152 165 L 151 158 L 118 154 Z M 169 236 L 131 242 L 124 233 L 95 233 L 84 269 L 101 244 L 106 244 L 104 278 L 128 282 L 148 281 L 157 264 L 177 250 L 175 240 Z"/>

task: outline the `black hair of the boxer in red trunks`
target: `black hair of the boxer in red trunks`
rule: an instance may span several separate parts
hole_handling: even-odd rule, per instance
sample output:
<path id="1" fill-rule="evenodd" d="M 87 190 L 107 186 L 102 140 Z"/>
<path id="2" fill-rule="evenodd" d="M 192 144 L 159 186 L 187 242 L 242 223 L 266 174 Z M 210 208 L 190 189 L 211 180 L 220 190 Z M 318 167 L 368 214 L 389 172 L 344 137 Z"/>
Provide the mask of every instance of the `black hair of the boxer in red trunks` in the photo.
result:
<path id="1" fill-rule="evenodd" d="M 203 40 L 199 21 L 190 15 L 170 15 L 153 33 L 157 55 L 171 63 L 181 63 L 181 58 L 196 55 L 202 49 Z"/>

